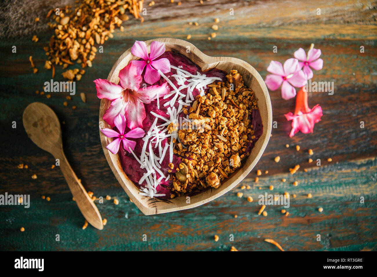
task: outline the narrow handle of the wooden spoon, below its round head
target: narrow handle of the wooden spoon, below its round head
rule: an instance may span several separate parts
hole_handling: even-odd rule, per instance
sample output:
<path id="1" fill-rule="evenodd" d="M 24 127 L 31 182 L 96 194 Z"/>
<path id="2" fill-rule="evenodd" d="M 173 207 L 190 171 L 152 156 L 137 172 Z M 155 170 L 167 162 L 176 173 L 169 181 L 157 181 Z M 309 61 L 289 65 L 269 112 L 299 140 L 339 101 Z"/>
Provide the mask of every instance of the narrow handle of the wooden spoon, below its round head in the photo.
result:
<path id="1" fill-rule="evenodd" d="M 68 187 L 72 192 L 72 195 L 75 198 L 76 204 L 81 213 L 90 225 L 97 228 L 98 230 L 102 230 L 103 223 L 101 214 L 98 211 L 98 208 L 94 204 L 93 200 L 90 199 L 81 182 L 78 180 L 75 172 L 70 167 L 63 151 L 61 151 L 59 155 L 56 155 L 55 159 L 60 159 L 60 169 L 63 172 L 64 178 L 67 181 Z"/>

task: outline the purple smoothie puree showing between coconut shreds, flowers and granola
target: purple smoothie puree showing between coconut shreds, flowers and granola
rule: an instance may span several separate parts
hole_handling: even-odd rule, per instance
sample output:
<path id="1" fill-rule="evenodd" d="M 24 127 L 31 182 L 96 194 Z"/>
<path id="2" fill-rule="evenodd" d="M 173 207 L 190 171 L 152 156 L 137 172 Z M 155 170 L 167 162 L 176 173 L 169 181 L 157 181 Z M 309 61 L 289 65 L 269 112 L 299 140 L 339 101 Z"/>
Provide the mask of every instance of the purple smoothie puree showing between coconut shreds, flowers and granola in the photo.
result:
<path id="1" fill-rule="evenodd" d="M 225 81 L 225 79 L 226 79 L 226 77 L 225 77 L 227 75 L 226 72 L 219 70 L 219 69 L 216 69 L 216 68 L 208 70 L 206 72 L 202 72 L 196 64 L 194 64 L 191 60 L 189 60 L 189 58 L 185 57 L 184 55 L 178 54 L 178 53 L 166 51 L 159 58 L 167 58 L 170 61 L 171 65 L 176 66 L 176 67 L 182 66 L 183 70 L 186 70 L 186 71 L 192 73 L 193 75 L 196 75 L 197 72 L 199 72 L 201 74 L 204 73 L 207 77 L 219 77 L 219 78 L 222 79 L 222 81 Z M 165 73 L 164 75 L 166 77 L 168 77 L 169 80 L 172 81 L 172 83 L 176 87 L 179 87 L 175 78 L 172 77 L 173 74 L 176 74 L 176 70 L 172 68 L 171 72 Z M 154 85 L 161 85 L 165 82 L 166 82 L 166 80 L 161 77 L 160 80 L 157 81 Z M 144 80 L 143 80 L 142 84 L 143 83 L 144 83 Z M 187 84 L 187 82 L 185 82 L 185 84 Z M 168 86 L 169 86 L 170 91 L 172 91 L 173 88 L 169 84 L 168 84 Z M 185 89 L 182 92 L 185 93 Z M 207 92 L 208 92 L 208 88 L 205 90 L 205 93 L 207 93 Z M 192 94 L 195 98 L 197 95 L 199 95 L 199 90 L 194 89 Z M 150 112 L 152 111 L 152 112 L 157 113 L 158 115 L 164 116 L 165 118 L 169 118 L 169 114 L 167 113 L 167 108 L 170 107 L 170 105 L 164 107 L 164 103 L 170 101 L 173 97 L 174 97 L 174 94 L 167 99 L 163 99 L 163 97 L 160 97 L 159 98 L 159 107 L 160 107 L 159 109 L 157 109 L 157 100 L 152 101 L 150 104 L 144 105 L 145 106 L 145 112 L 146 112 L 146 118 L 143 121 L 142 129 L 146 133 L 150 129 L 151 125 L 153 124 L 153 121 L 155 120 L 155 116 L 152 115 Z M 175 103 L 175 107 L 178 109 L 178 106 L 179 106 L 179 103 L 177 101 Z M 189 107 L 187 106 L 186 108 L 188 109 Z M 182 117 L 182 116 L 185 117 L 186 115 L 182 112 L 179 115 L 179 117 Z M 179 118 L 178 118 L 178 120 L 179 120 Z M 251 120 L 252 120 L 252 124 L 253 124 L 255 139 L 253 139 L 252 142 L 248 143 L 246 154 L 250 153 L 251 149 L 254 147 L 254 143 L 259 139 L 259 137 L 263 133 L 263 125 L 262 125 L 262 119 L 261 119 L 261 115 L 259 113 L 259 109 L 253 110 Z M 164 123 L 166 123 L 164 120 L 158 119 L 156 125 L 161 125 L 161 124 L 164 124 Z M 249 139 L 250 139 L 252 135 L 249 134 L 248 136 L 249 136 Z M 133 139 L 133 140 L 136 141 L 135 150 L 133 150 L 133 152 L 135 153 L 135 155 L 137 157 L 140 157 L 141 156 L 141 150 L 142 150 L 143 144 L 144 144 L 143 138 L 138 138 L 138 139 Z M 167 138 L 165 138 L 164 141 L 162 141 L 162 143 L 161 143 L 162 148 L 164 148 L 165 144 L 167 144 L 167 143 L 169 143 L 169 141 L 168 141 Z M 159 156 L 158 147 L 155 148 L 155 144 L 153 142 L 152 142 L 152 145 L 153 145 L 153 147 L 152 147 L 153 152 L 155 153 L 156 156 Z M 149 152 L 148 147 L 147 147 L 146 151 Z M 127 174 L 128 178 L 130 178 L 131 181 L 133 181 L 136 185 L 138 185 L 139 180 L 141 179 L 143 174 L 147 172 L 147 170 L 144 169 L 144 168 L 143 169 L 140 168 L 139 162 L 136 161 L 136 159 L 132 155 L 132 153 L 130 154 L 127 151 L 124 150 L 122 144 L 121 144 L 119 155 L 120 155 L 121 164 L 123 166 L 124 172 Z M 161 163 L 160 170 L 162 171 L 162 173 L 164 173 L 165 176 L 167 176 L 169 174 L 174 174 L 176 172 L 175 168 L 178 167 L 178 164 L 180 162 L 181 162 L 181 158 L 178 155 L 173 155 L 173 162 L 172 163 L 174 164 L 174 168 L 173 168 L 172 172 L 170 172 L 170 173 L 168 172 L 168 170 L 170 169 L 170 167 L 168 165 L 169 164 L 169 148 L 168 148 L 168 151 L 167 151 L 167 153 L 164 157 L 164 160 Z M 159 175 L 156 172 L 156 179 L 158 179 L 160 177 L 161 177 L 161 175 Z M 143 183 L 141 184 L 141 187 L 145 187 L 146 184 L 147 184 L 147 182 L 144 180 Z M 170 181 L 170 180 L 165 181 L 165 179 L 162 179 L 160 184 L 156 187 L 156 190 L 157 190 L 157 194 L 165 194 L 165 196 L 161 196 L 159 198 L 170 199 L 170 195 L 172 194 L 170 189 L 169 189 L 170 186 L 172 186 L 172 181 Z"/>

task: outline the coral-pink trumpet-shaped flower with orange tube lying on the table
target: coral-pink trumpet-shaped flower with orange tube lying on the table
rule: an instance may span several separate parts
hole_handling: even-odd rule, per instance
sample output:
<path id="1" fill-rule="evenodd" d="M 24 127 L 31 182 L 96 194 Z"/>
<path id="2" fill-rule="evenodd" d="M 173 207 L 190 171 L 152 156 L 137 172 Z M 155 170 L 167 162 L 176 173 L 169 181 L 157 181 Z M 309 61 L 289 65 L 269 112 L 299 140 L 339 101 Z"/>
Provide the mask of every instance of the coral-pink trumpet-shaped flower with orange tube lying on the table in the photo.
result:
<path id="1" fill-rule="evenodd" d="M 301 131 L 304 134 L 313 133 L 314 123 L 317 123 L 321 120 L 322 108 L 317 104 L 310 109 L 308 106 L 308 92 L 305 87 L 297 92 L 296 97 L 296 109 L 293 113 L 285 114 L 287 120 L 292 120 L 292 130 L 289 134 L 290 137 L 293 137 L 294 134 Z"/>

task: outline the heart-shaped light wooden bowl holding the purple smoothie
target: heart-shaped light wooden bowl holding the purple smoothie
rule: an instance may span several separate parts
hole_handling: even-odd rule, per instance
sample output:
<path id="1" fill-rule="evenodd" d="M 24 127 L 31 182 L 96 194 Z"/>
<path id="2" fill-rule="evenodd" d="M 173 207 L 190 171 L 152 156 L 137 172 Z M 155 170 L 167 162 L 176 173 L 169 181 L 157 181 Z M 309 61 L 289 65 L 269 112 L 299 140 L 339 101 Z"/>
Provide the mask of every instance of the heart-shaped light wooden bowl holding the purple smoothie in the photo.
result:
<path id="1" fill-rule="evenodd" d="M 169 213 L 172 211 L 179 211 L 197 207 L 223 195 L 227 191 L 234 188 L 239 182 L 242 181 L 242 179 L 247 176 L 247 174 L 259 161 L 259 158 L 261 158 L 262 153 L 266 148 L 268 139 L 270 139 L 272 127 L 272 109 L 267 87 L 261 75 L 259 75 L 259 73 L 250 64 L 237 58 L 207 56 L 199 51 L 198 48 L 193 46 L 193 44 L 176 38 L 157 38 L 154 40 L 147 40 L 145 41 L 145 43 L 147 44 L 148 51 L 150 50 L 150 43 L 152 43 L 152 41 L 165 43 L 166 51 L 173 51 L 185 55 L 195 64 L 201 67 L 202 71 L 206 71 L 214 67 L 224 70 L 227 73 L 229 73 L 232 69 L 238 70 L 238 72 L 244 78 L 245 85 L 253 90 L 256 98 L 258 99 L 258 107 L 262 117 L 263 134 L 256 142 L 253 150 L 250 153 L 250 156 L 248 156 L 248 158 L 244 161 L 243 166 L 236 170 L 233 174 L 231 174 L 219 188 L 211 188 L 210 190 L 204 191 L 195 196 L 191 196 L 189 201 L 190 203 L 187 203 L 186 197 L 176 197 L 174 199 L 164 200 L 140 195 L 139 187 L 127 177 L 126 173 L 124 173 L 120 157 L 118 155 L 112 154 L 109 150 L 107 150 L 106 145 L 109 144 L 112 139 L 107 138 L 103 135 L 103 133 L 100 132 L 102 148 L 105 153 L 107 162 L 109 162 L 111 170 L 115 174 L 116 179 L 118 179 L 119 183 L 126 191 L 130 199 L 146 215 Z M 128 49 L 120 56 L 118 61 L 116 61 L 109 73 L 109 77 L 107 77 L 107 80 L 118 84 L 119 71 L 127 66 L 129 61 L 137 59 L 138 57 L 135 57 L 131 54 L 131 48 Z M 101 100 L 101 128 L 110 128 L 110 126 L 102 119 L 109 106 L 109 100 Z"/>

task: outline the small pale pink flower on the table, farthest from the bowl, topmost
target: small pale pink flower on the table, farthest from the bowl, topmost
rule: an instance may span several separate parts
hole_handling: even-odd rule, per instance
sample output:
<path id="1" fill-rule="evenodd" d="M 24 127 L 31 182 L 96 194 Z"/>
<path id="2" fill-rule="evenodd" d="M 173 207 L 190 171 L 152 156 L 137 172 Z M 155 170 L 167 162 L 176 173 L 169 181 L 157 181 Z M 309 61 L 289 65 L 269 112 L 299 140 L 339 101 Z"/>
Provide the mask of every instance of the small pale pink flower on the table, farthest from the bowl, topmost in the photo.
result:
<path id="1" fill-rule="evenodd" d="M 307 75 L 308 80 L 313 78 L 313 70 L 311 70 L 311 68 L 320 70 L 323 67 L 323 60 L 319 59 L 321 51 L 320 49 L 315 49 L 313 47 L 314 44 L 311 44 L 311 47 L 308 51 L 308 56 L 306 55 L 305 50 L 302 48 L 299 48 L 296 52 L 294 52 L 294 57 L 300 60 L 300 69 L 302 69 L 303 72 Z"/>

